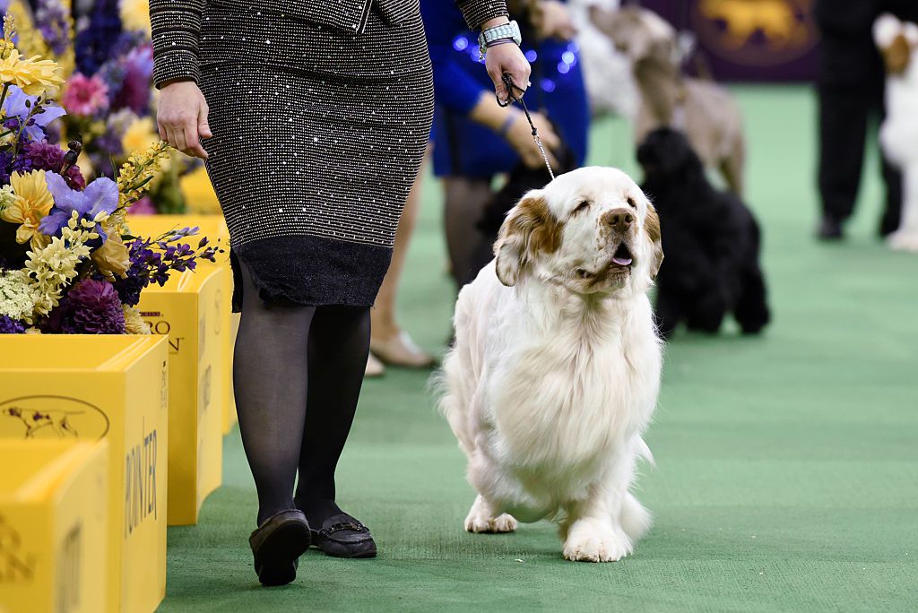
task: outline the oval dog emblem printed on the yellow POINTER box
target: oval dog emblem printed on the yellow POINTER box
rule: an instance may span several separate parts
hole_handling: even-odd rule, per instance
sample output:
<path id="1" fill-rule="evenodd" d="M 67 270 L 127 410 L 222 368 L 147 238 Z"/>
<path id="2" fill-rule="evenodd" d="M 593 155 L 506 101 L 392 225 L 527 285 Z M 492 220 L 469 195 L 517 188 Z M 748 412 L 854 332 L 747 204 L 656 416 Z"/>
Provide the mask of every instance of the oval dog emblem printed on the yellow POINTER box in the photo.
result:
<path id="1" fill-rule="evenodd" d="M 67 396 L 21 396 L 0 403 L 0 439 L 99 440 L 108 432 L 101 408 Z"/>

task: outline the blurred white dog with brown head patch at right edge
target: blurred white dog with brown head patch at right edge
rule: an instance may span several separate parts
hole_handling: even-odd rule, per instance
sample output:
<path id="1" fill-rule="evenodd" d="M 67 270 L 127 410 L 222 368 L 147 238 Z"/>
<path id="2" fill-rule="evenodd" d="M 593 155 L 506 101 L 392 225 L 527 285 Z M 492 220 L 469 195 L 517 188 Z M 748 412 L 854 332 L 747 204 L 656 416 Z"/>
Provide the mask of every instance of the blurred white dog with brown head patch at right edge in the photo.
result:
<path id="1" fill-rule="evenodd" d="M 879 141 L 902 172 L 902 217 L 890 247 L 918 251 L 918 24 L 889 14 L 873 28 L 886 63 L 886 120 Z"/>

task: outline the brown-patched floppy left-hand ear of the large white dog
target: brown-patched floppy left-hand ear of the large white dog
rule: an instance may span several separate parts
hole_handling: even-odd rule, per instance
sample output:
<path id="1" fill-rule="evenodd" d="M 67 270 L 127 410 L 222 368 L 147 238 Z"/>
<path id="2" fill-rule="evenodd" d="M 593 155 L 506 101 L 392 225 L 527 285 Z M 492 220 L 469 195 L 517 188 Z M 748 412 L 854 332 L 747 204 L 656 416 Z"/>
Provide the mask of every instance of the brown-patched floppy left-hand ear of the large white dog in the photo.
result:
<path id="1" fill-rule="evenodd" d="M 552 253 L 560 245 L 561 225 L 548 210 L 542 190 L 532 190 L 510 209 L 494 243 L 500 283 L 517 284 L 538 253 Z"/>

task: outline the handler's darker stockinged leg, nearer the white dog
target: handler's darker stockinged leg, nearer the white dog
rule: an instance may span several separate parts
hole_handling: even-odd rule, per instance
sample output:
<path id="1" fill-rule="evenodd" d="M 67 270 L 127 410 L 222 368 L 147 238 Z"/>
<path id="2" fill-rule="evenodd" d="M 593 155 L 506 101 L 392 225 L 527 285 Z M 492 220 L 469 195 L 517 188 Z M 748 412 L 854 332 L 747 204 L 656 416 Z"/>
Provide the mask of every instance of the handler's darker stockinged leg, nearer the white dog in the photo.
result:
<path id="1" fill-rule="evenodd" d="M 341 513 L 335 468 L 357 411 L 370 351 L 370 309 L 319 306 L 309 335 L 306 430 L 299 448 L 297 507 L 313 529 Z"/>

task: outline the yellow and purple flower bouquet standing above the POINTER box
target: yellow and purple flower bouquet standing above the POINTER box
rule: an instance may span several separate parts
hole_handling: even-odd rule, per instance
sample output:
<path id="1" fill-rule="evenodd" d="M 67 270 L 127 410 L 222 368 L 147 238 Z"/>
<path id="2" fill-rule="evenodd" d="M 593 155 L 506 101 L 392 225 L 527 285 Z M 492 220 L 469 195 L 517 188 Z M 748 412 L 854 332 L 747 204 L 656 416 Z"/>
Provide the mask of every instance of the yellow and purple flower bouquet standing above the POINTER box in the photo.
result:
<path id="1" fill-rule="evenodd" d="M 82 143 L 49 139 L 66 110 L 51 102 L 63 83 L 55 61 L 24 57 L 4 20 L 0 40 L 0 333 L 149 332 L 140 292 L 173 272 L 213 262 L 218 248 L 183 242 L 197 228 L 152 239 L 130 234 L 126 214 L 168 158 L 163 142 L 131 154 L 113 177 L 86 181 Z M 93 104 L 92 100 L 84 101 Z"/>

